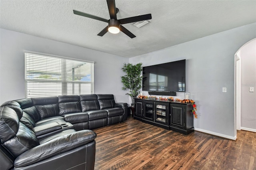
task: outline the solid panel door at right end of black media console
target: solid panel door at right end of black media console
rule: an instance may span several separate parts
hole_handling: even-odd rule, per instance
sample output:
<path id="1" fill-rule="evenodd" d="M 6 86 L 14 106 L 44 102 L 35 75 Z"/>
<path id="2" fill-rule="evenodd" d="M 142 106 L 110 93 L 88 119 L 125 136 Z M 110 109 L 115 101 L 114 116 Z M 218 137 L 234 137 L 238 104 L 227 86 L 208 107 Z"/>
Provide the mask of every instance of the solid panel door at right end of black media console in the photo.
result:
<path id="1" fill-rule="evenodd" d="M 184 106 L 171 104 L 170 107 L 170 126 L 184 128 Z"/>

